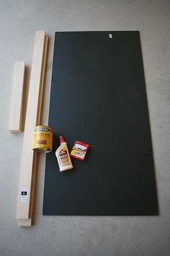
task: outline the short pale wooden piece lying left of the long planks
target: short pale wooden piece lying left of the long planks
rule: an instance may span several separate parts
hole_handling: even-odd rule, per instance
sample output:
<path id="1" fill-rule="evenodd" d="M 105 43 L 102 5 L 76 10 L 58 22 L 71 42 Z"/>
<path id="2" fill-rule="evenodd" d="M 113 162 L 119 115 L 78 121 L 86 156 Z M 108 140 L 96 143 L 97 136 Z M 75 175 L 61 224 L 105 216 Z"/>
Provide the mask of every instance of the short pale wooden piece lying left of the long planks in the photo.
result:
<path id="1" fill-rule="evenodd" d="M 22 98 L 24 88 L 24 61 L 14 63 L 12 99 L 9 113 L 9 131 L 22 132 Z"/>

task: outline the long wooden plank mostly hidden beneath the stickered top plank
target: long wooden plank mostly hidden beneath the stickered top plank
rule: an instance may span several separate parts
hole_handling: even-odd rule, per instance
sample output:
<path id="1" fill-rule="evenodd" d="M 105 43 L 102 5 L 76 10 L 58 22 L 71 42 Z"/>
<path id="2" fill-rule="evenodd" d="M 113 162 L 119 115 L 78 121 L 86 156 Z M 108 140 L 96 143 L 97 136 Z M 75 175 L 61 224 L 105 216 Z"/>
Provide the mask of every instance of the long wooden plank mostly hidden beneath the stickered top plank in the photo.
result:
<path id="1" fill-rule="evenodd" d="M 41 108 L 42 108 L 42 95 L 43 95 L 43 85 L 45 80 L 45 64 L 47 59 L 47 51 L 48 51 L 48 36 L 45 36 L 45 47 L 44 54 L 42 59 L 42 74 L 41 74 L 41 82 L 40 82 L 40 93 L 39 93 L 39 104 L 37 109 L 37 122 L 36 125 L 40 125 L 40 116 L 41 116 Z M 19 220 L 19 226 L 31 226 L 32 225 L 32 215 L 33 215 L 33 204 L 34 204 L 34 194 L 35 194 L 35 176 L 36 176 L 36 168 L 37 168 L 37 153 L 34 153 L 33 164 L 32 164 L 32 187 L 30 193 L 30 210 L 29 210 L 29 218 L 27 220 Z"/>

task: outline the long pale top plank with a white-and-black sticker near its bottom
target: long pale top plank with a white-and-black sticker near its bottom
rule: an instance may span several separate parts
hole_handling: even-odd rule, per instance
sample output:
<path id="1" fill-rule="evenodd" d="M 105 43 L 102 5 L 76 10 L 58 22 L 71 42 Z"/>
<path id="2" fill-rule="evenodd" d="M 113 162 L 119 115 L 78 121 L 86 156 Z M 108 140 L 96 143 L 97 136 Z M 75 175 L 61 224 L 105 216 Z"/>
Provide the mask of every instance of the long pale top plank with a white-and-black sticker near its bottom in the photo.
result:
<path id="1" fill-rule="evenodd" d="M 17 219 L 19 220 L 28 220 L 30 218 L 30 195 L 32 189 L 32 165 L 34 158 L 32 140 L 34 129 L 37 125 L 37 111 L 40 101 L 39 94 L 42 86 L 41 75 L 44 46 L 45 31 L 36 31 L 19 176 L 19 191 L 17 200 Z"/>

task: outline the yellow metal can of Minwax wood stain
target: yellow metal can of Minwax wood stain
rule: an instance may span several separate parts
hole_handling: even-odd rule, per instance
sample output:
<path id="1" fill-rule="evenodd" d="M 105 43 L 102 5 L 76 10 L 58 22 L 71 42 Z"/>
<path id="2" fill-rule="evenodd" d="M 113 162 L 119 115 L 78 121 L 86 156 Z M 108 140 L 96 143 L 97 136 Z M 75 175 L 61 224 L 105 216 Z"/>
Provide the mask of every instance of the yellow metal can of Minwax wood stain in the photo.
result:
<path id="1" fill-rule="evenodd" d="M 49 153 L 53 147 L 53 128 L 40 125 L 35 127 L 33 150 L 40 153 Z"/>

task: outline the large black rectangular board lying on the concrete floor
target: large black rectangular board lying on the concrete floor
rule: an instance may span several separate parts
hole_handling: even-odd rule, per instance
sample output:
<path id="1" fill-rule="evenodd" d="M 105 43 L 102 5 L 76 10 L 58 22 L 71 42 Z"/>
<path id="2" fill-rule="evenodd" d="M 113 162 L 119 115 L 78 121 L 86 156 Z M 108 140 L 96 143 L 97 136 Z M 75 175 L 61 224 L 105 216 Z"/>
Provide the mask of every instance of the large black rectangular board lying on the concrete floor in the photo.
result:
<path id="1" fill-rule="evenodd" d="M 49 125 L 43 215 L 158 214 L 138 31 L 55 33 Z M 59 135 L 90 145 L 73 171 L 59 171 Z"/>

